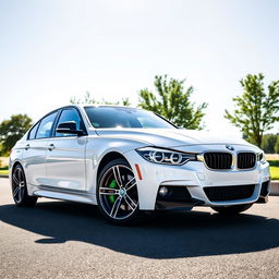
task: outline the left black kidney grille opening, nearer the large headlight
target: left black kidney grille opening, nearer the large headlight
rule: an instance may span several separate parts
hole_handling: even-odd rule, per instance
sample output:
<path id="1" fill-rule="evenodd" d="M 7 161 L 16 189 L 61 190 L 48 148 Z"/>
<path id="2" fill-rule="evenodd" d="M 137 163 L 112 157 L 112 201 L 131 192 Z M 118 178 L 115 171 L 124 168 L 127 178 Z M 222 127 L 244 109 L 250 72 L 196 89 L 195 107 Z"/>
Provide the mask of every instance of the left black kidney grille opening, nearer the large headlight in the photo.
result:
<path id="1" fill-rule="evenodd" d="M 210 169 L 227 170 L 231 168 L 232 155 L 230 153 L 205 153 L 204 158 Z"/>

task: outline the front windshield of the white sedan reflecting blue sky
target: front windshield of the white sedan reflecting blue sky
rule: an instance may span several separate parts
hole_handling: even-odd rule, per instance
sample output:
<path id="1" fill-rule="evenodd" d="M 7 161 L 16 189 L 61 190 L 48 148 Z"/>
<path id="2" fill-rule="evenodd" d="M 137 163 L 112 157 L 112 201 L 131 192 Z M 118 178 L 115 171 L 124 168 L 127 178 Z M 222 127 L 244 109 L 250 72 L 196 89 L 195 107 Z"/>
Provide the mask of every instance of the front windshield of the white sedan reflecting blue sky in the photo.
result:
<path id="1" fill-rule="evenodd" d="M 175 129 L 153 112 L 125 107 L 84 107 L 94 128 Z"/>

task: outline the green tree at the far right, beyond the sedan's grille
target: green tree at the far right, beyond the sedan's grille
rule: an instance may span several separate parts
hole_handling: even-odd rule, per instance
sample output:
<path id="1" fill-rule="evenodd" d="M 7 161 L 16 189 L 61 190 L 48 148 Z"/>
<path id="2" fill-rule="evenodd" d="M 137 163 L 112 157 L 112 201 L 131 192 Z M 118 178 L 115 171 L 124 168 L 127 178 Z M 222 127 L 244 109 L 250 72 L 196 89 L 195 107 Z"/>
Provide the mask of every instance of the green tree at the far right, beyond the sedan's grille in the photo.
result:
<path id="1" fill-rule="evenodd" d="M 247 140 L 258 147 L 262 146 L 264 132 L 272 129 L 272 124 L 279 120 L 279 81 L 271 82 L 267 93 L 263 81 L 263 74 L 248 74 L 241 80 L 243 94 L 232 99 L 235 106 L 233 113 L 225 111 L 225 118 L 240 128 Z"/>

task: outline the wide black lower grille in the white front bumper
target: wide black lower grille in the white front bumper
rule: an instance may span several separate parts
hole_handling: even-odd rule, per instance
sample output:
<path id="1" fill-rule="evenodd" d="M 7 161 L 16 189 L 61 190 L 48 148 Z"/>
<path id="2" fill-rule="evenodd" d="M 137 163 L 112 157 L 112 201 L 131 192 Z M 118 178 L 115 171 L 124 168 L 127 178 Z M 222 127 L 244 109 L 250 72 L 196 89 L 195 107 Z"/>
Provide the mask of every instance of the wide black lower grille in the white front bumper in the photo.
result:
<path id="1" fill-rule="evenodd" d="M 226 202 L 248 198 L 254 193 L 255 185 L 204 187 L 210 202 Z"/>

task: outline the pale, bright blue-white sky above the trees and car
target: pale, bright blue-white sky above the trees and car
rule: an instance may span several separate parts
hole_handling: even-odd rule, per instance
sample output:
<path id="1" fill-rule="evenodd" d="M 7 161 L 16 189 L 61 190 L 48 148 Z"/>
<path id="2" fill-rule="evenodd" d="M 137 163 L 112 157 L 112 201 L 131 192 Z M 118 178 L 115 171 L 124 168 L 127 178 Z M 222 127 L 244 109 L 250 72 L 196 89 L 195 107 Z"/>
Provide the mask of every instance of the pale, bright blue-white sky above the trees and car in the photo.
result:
<path id="1" fill-rule="evenodd" d="M 168 74 L 209 104 L 207 130 L 235 134 L 223 110 L 239 80 L 279 80 L 278 13 L 277 0 L 0 0 L 0 120 L 36 120 L 86 90 L 136 105 Z"/>

